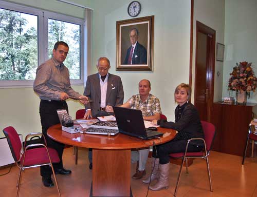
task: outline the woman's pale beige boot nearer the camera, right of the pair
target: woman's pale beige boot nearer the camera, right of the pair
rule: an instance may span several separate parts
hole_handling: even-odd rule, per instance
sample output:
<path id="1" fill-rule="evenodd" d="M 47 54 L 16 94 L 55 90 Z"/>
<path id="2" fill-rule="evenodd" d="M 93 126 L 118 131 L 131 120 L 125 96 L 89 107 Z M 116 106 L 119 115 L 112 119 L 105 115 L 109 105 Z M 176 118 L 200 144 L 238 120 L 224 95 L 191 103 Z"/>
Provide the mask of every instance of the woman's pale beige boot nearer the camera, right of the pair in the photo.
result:
<path id="1" fill-rule="evenodd" d="M 160 164 L 160 179 L 155 185 L 149 187 L 151 190 L 157 191 L 157 190 L 161 190 L 162 188 L 168 189 L 168 187 L 169 187 L 169 168 L 170 168 L 170 163 Z"/>

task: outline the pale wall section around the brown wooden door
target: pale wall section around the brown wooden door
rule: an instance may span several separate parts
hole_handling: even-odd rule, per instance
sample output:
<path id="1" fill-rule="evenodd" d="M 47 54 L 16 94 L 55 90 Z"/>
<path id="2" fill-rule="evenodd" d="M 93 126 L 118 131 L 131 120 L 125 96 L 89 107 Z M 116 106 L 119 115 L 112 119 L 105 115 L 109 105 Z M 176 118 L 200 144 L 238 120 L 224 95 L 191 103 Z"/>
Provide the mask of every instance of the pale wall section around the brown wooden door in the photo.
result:
<path id="1" fill-rule="evenodd" d="M 192 89 L 194 89 L 195 78 L 195 38 L 196 21 L 216 31 L 216 43 L 224 44 L 224 20 L 225 20 L 225 0 L 195 0 L 194 1 L 194 35 L 193 35 L 193 73 Z M 216 54 L 216 53 L 215 53 Z M 215 55 L 216 56 L 216 55 Z M 217 75 L 219 72 L 219 76 Z M 223 62 L 215 61 L 214 74 L 214 97 L 213 101 L 222 100 L 223 87 Z M 192 99 L 193 99 L 192 95 Z"/>

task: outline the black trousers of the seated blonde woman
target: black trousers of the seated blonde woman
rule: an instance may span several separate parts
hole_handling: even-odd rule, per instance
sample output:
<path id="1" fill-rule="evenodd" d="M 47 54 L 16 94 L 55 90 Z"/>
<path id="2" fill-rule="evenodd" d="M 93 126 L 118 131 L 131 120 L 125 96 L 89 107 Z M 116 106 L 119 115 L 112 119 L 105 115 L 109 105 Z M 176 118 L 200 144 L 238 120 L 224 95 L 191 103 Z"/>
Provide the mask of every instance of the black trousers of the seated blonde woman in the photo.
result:
<path id="1" fill-rule="evenodd" d="M 153 157 L 159 158 L 160 164 L 168 164 L 170 162 L 170 153 L 176 152 L 185 152 L 186 146 L 188 141 L 187 140 L 178 140 L 176 137 L 167 143 L 160 144 L 153 147 Z M 203 146 L 198 146 L 195 144 L 189 143 L 188 145 L 188 152 L 198 152 L 203 149 Z M 157 151 L 157 152 L 156 152 Z"/>

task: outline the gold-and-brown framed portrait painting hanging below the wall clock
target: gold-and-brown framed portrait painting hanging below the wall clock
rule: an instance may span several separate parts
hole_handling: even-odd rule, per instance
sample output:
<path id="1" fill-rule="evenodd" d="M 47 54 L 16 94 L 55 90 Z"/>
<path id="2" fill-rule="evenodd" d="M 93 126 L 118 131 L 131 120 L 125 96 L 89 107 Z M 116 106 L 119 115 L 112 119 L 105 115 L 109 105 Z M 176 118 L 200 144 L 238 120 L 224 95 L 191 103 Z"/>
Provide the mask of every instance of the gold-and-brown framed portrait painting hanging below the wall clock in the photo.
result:
<path id="1" fill-rule="evenodd" d="M 152 71 L 154 16 L 116 22 L 116 70 Z"/>

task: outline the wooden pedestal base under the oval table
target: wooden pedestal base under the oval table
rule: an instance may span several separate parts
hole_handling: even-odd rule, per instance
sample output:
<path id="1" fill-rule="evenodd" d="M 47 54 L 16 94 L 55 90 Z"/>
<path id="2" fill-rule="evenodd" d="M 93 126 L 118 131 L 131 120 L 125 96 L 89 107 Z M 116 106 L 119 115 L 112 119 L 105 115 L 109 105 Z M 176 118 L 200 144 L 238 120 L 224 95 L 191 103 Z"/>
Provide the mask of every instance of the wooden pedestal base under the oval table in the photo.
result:
<path id="1" fill-rule="evenodd" d="M 132 196 L 130 176 L 130 149 L 93 149 L 93 195 L 90 196 Z"/>

